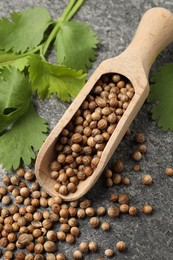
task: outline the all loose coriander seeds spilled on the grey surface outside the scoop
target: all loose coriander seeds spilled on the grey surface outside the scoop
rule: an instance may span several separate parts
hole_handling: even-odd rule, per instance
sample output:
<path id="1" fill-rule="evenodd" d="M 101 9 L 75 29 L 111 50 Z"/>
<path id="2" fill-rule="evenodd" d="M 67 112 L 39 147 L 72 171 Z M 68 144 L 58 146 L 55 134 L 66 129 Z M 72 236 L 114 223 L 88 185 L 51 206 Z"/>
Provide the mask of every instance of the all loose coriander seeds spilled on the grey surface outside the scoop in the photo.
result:
<path id="1" fill-rule="evenodd" d="M 146 152 L 144 135 L 136 134 L 135 150 L 129 155 L 143 187 L 153 185 L 154 177 L 140 168 Z M 151 215 L 153 206 L 134 203 L 126 187 L 130 188 L 131 177 L 122 160 L 116 159 L 107 167 L 103 175 L 103 188 L 108 189 L 106 204 L 101 198 L 94 204 L 89 194 L 72 202 L 64 202 L 59 196 L 50 197 L 35 180 L 34 172 L 28 169 L 20 168 L 16 173 L 4 175 L 0 186 L 0 257 L 4 260 L 104 260 L 119 259 L 120 254 L 125 254 L 127 258 L 132 245 L 126 234 L 114 236 L 116 226 L 121 227 L 125 216 L 137 223 L 135 217 Z M 167 167 L 164 174 L 172 177 L 173 169 Z"/>

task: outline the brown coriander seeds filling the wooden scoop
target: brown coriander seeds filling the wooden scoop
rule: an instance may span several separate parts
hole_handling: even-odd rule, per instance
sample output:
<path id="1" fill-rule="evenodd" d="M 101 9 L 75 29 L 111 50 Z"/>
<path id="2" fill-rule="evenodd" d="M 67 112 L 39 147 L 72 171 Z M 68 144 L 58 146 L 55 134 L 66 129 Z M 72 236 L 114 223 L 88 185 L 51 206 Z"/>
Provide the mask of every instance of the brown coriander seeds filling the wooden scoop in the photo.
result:
<path id="1" fill-rule="evenodd" d="M 93 174 L 134 93 L 129 80 L 119 74 L 98 80 L 58 137 L 56 160 L 50 165 L 57 192 L 74 193 L 79 182 Z"/>

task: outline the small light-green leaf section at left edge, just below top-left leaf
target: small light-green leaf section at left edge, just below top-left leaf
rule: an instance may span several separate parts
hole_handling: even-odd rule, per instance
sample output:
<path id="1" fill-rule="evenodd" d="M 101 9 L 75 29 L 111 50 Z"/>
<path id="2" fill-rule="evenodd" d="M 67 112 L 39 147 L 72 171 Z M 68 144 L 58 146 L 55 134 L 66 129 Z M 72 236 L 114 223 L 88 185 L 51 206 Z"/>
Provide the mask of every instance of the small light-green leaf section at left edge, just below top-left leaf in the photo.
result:
<path id="1" fill-rule="evenodd" d="M 22 56 L 12 52 L 0 51 L 0 68 L 14 66 L 20 71 L 28 65 L 28 55 Z"/>

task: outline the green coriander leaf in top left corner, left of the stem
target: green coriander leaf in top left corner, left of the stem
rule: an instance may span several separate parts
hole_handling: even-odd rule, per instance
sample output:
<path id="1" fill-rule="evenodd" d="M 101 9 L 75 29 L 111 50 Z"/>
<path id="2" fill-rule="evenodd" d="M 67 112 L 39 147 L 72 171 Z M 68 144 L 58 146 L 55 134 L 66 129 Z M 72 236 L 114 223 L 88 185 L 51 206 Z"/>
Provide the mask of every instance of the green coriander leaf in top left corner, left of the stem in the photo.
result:
<path id="1" fill-rule="evenodd" d="M 47 9 L 28 8 L 0 20 L 0 49 L 16 53 L 32 50 L 43 39 L 51 18 Z"/>

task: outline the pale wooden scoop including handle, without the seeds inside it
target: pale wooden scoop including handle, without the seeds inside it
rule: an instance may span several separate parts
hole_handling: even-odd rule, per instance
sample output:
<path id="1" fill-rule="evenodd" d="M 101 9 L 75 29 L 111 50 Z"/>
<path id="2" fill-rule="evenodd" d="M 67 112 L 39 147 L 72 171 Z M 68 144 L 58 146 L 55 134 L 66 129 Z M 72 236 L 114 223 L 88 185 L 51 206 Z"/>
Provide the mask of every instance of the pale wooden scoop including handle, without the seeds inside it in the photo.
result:
<path id="1" fill-rule="evenodd" d="M 152 8 L 143 15 L 136 34 L 128 48 L 117 57 L 107 59 L 98 66 L 50 133 L 38 153 L 35 166 L 36 177 L 39 184 L 49 195 L 59 195 L 66 201 L 73 201 L 83 196 L 92 188 L 149 93 L 148 73 L 152 63 L 172 40 L 173 14 L 164 8 Z M 79 182 L 75 193 L 62 196 L 54 190 L 56 181 L 50 178 L 50 164 L 55 159 L 54 149 L 57 138 L 62 129 L 72 119 L 98 79 L 107 73 L 118 73 L 128 78 L 135 89 L 135 95 L 104 148 L 100 162 L 93 174 L 87 177 L 86 180 Z"/>

